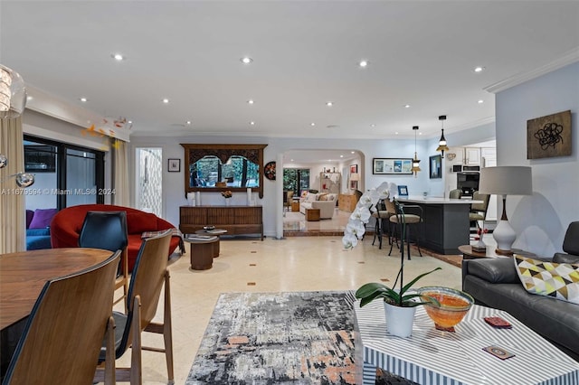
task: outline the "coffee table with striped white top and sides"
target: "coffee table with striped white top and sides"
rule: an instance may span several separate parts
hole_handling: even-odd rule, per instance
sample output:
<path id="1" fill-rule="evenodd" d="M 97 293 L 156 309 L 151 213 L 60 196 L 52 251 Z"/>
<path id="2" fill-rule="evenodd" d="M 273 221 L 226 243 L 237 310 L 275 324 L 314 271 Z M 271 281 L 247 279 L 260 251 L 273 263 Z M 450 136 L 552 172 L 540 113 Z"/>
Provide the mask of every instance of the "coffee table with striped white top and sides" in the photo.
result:
<path id="1" fill-rule="evenodd" d="M 374 301 L 356 312 L 356 383 L 374 384 L 382 368 L 419 384 L 577 384 L 579 362 L 559 351 L 507 312 L 473 305 L 455 326 L 441 332 L 419 306 L 413 335 L 399 338 L 385 333 L 384 305 Z M 500 316 L 512 329 L 495 329 L 483 321 Z M 500 360 L 482 349 L 497 345 L 515 354 Z"/>

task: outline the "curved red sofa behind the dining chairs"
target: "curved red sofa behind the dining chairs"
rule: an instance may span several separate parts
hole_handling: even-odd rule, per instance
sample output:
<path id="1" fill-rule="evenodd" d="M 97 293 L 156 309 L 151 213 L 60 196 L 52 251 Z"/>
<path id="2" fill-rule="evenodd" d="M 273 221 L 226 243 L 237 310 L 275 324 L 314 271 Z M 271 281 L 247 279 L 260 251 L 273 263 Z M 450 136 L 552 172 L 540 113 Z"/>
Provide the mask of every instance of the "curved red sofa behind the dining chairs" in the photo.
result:
<path id="1" fill-rule="evenodd" d="M 168 221 L 149 212 L 112 204 L 80 204 L 62 209 L 54 215 L 51 223 L 51 242 L 53 249 L 79 247 L 79 235 L 81 234 L 82 223 L 84 222 L 87 211 L 127 212 L 128 271 L 132 271 L 137 260 L 143 233 L 176 229 L 176 227 Z M 178 230 L 176 230 L 175 236 L 171 238 L 167 257 L 173 254 L 177 246 L 181 249 L 181 252 L 185 250 L 183 239 Z"/>

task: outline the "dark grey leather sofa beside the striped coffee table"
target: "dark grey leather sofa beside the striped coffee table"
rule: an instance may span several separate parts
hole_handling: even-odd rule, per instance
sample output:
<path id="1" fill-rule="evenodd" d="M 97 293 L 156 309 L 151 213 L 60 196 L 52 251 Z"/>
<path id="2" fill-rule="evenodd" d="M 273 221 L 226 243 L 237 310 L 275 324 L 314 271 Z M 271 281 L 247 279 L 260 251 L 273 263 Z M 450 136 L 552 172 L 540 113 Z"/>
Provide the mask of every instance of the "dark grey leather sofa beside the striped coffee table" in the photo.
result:
<path id="1" fill-rule="evenodd" d="M 552 259 L 547 259 L 579 264 L 579 221 L 569 225 L 563 249 L 565 253 L 555 253 Z M 513 315 L 579 361 L 579 305 L 527 293 L 517 276 L 513 258 L 464 259 L 462 290 L 479 305 Z"/>

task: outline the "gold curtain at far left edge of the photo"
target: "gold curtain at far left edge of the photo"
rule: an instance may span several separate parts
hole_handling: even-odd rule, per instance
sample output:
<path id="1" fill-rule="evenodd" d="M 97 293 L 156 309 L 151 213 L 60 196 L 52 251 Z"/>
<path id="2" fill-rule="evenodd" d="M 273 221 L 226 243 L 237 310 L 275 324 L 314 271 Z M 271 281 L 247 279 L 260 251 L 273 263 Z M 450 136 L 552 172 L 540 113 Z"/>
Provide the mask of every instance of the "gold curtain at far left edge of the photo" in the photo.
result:
<path id="1" fill-rule="evenodd" d="M 16 185 L 14 177 L 5 179 L 24 172 L 22 117 L 0 119 L 0 154 L 8 158 L 0 169 L 0 254 L 5 254 L 24 251 L 26 245 L 24 189 Z"/>

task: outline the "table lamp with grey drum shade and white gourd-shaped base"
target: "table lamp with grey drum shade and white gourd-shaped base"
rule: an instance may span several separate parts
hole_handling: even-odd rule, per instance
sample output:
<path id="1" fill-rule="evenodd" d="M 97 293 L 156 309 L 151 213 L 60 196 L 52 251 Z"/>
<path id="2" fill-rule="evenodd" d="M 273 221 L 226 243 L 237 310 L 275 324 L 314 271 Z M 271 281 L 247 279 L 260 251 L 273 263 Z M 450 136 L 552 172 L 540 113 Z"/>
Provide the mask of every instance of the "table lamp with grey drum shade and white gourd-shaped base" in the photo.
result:
<path id="1" fill-rule="evenodd" d="M 508 223 L 507 195 L 533 193 L 531 167 L 511 165 L 485 167 L 480 171 L 479 192 L 502 195 L 503 213 L 492 236 L 497 241 L 497 254 L 512 255 L 511 246 L 517 239 L 517 233 Z"/>

